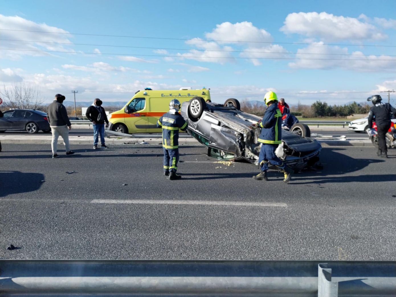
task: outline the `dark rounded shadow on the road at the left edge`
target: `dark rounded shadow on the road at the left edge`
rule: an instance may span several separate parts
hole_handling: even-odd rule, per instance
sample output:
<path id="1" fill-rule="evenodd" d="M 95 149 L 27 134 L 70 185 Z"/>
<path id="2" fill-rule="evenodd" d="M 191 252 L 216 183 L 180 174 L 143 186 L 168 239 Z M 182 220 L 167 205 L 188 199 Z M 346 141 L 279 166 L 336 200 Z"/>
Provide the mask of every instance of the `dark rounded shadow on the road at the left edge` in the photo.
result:
<path id="1" fill-rule="evenodd" d="M 0 171 L 0 197 L 38 190 L 42 181 L 44 181 L 42 173 Z"/>

